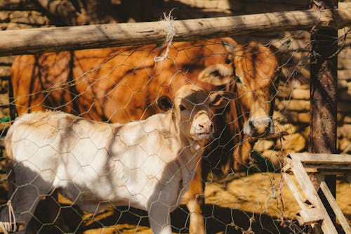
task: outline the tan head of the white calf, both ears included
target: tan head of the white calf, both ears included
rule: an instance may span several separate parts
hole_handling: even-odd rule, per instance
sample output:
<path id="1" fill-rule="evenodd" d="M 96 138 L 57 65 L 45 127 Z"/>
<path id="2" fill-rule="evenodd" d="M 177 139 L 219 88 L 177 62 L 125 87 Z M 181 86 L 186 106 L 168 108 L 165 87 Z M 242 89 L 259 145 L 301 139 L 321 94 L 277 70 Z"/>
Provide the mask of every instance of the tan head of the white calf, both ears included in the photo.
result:
<path id="1" fill-rule="evenodd" d="M 195 141 L 205 141 L 213 134 L 211 108 L 224 108 L 235 97 L 234 93 L 228 91 L 216 91 L 208 95 L 199 86 L 185 85 L 178 89 L 174 101 L 168 96 L 161 96 L 157 105 L 161 110 L 172 110 L 180 134 Z"/>

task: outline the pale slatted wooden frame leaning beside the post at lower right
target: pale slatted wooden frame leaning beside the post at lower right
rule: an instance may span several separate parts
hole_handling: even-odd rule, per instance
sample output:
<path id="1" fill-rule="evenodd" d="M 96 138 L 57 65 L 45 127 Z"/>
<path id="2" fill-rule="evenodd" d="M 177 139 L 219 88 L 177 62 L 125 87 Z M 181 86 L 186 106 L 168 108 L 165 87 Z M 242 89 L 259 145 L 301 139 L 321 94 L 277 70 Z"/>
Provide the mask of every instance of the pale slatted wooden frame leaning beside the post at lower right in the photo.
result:
<path id="1" fill-rule="evenodd" d="M 287 164 L 283 168 L 283 178 L 300 205 L 301 210 L 296 216 L 298 223 L 301 226 L 309 224 L 312 226 L 312 230 L 316 232 L 320 232 L 322 229 L 322 232 L 325 234 L 338 234 L 317 193 L 317 190 L 320 189 L 336 214 L 336 218 L 345 233 L 351 234 L 351 228 L 347 223 L 347 219 L 324 181 L 325 175 L 342 174 L 346 176 L 347 182 L 351 183 L 351 155 L 290 153 L 286 157 Z M 289 171 L 293 172 L 305 197 L 300 194 L 298 187 L 288 174 Z"/>

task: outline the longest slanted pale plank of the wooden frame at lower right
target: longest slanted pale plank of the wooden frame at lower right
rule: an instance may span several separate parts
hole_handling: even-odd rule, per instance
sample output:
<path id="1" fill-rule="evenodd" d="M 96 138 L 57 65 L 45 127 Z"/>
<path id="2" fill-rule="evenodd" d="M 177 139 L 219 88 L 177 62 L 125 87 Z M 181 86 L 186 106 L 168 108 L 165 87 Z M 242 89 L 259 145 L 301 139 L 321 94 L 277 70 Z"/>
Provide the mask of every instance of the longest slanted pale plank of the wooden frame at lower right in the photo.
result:
<path id="1" fill-rule="evenodd" d="M 298 160 L 298 158 L 295 157 L 291 160 L 291 165 L 291 170 L 296 176 L 296 180 L 298 181 L 300 188 L 303 190 L 303 193 L 305 193 L 305 196 L 308 200 L 310 200 L 310 202 L 312 202 L 312 204 L 315 204 L 320 209 L 321 214 L 324 217 L 322 222 L 322 230 L 324 233 L 337 234 L 338 232 L 333 224 L 333 221 L 329 217 L 329 214 L 326 211 L 322 200 L 320 200 L 317 191 L 314 189 L 307 172 L 303 168 L 303 164 Z"/>

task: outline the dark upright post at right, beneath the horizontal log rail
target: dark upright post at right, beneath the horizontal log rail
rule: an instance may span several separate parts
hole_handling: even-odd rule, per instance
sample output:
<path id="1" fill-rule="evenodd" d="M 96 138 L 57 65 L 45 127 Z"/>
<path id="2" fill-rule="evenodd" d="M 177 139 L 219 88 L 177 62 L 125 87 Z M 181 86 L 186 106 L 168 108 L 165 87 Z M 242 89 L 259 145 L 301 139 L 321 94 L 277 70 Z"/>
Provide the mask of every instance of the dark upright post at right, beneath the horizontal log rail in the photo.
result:
<path id="1" fill-rule="evenodd" d="M 312 1 L 316 11 L 337 8 L 337 0 Z M 317 4 L 319 6 L 317 6 Z M 318 29 L 312 33 L 310 58 L 310 152 L 336 152 L 336 101 L 338 70 L 338 30 Z M 326 184 L 336 197 L 336 176 L 326 176 Z M 335 224 L 335 214 L 321 197 Z"/>

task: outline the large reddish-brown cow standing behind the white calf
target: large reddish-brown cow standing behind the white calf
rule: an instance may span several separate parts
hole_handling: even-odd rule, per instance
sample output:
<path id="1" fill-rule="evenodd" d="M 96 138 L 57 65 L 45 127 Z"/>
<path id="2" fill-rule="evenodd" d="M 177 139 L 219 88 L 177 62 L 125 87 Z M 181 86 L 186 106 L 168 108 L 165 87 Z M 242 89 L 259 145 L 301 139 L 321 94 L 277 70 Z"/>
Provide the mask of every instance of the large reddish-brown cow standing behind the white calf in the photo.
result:
<path id="1" fill-rule="evenodd" d="M 149 45 L 18 56 L 11 76 L 14 103 L 19 115 L 49 108 L 125 123 L 159 112 L 157 97 L 185 84 L 238 93 L 239 101 L 216 112 L 216 141 L 184 197 L 190 233 L 204 233 L 200 205 L 208 171 L 245 168 L 254 138 L 272 133 L 277 58 L 262 44 L 239 45 L 230 38 L 174 43 L 166 60 L 155 63 L 165 51 Z"/>

